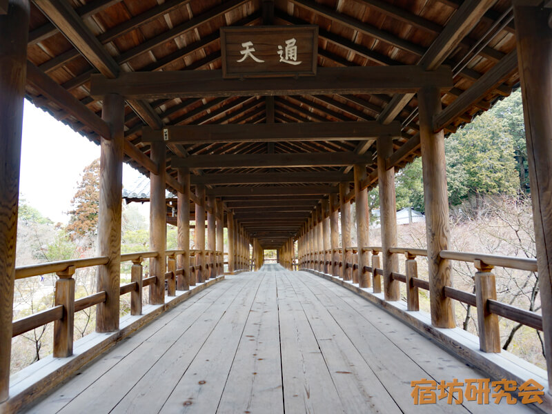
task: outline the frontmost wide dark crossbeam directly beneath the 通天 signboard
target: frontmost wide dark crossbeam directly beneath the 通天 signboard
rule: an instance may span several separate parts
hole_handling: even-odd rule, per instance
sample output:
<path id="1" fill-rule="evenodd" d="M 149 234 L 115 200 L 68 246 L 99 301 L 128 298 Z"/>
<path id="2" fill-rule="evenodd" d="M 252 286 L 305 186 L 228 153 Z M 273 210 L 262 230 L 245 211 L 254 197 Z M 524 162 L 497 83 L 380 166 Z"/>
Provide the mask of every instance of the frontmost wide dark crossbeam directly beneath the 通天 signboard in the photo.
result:
<path id="1" fill-rule="evenodd" d="M 45 0 L 41 0 L 45 1 Z M 221 70 L 122 72 L 117 79 L 92 75 L 90 95 L 120 93 L 127 99 L 225 97 L 244 95 L 332 95 L 416 92 L 424 86 L 452 88 L 448 67 L 426 71 L 419 66 L 319 68 L 316 77 L 223 79 Z"/>

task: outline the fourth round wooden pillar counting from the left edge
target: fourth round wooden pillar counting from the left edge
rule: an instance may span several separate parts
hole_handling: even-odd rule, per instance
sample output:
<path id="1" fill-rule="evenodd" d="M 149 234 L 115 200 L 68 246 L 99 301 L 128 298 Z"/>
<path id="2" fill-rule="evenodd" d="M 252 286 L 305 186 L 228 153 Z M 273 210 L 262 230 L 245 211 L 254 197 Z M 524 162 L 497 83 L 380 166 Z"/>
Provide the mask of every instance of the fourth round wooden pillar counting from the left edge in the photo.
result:
<path id="1" fill-rule="evenodd" d="M 178 250 L 184 250 L 184 255 L 178 256 L 177 268 L 182 269 L 182 275 L 177 280 L 177 290 L 190 289 L 190 170 L 178 168 L 178 182 L 182 185 L 182 193 L 178 192 L 177 210 L 177 243 Z"/>

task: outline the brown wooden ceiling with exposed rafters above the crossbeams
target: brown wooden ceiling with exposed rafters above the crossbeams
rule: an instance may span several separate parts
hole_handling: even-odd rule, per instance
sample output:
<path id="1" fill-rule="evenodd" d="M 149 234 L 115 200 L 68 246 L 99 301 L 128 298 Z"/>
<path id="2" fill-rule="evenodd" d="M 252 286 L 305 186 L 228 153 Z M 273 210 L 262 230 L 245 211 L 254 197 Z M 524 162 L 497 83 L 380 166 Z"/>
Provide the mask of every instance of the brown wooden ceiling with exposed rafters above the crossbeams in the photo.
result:
<path id="1" fill-rule="evenodd" d="M 489 109 L 519 82 L 510 0 L 34 0 L 27 97 L 98 142 L 101 128 L 93 115 L 101 115 L 101 101 L 90 96 L 91 75 L 218 70 L 219 28 L 262 24 L 319 26 L 319 67 L 417 65 L 435 70 L 441 64 L 451 66 L 454 86 L 442 95 L 444 110 L 435 119 L 435 126 L 446 133 Z M 146 175 L 156 166 L 148 157 L 149 144 L 141 139 L 144 127 L 398 121 L 402 132 L 393 141 L 395 152 L 388 166 L 402 168 L 420 156 L 413 94 L 129 99 L 125 121 L 126 161 Z M 246 142 L 168 145 L 168 187 L 178 186 L 171 168 L 178 157 L 268 158 L 310 152 L 362 155 L 368 164 L 366 185 L 377 184 L 373 140 L 264 141 L 259 137 Z M 350 165 L 204 165 L 193 169 L 192 183 L 206 184 L 208 194 L 235 208 L 239 221 L 266 248 L 280 246 L 282 235 L 295 235 L 317 201 L 335 187 L 339 175 L 351 179 Z M 296 172 L 302 175 L 293 181 Z M 244 175 L 251 178 L 240 179 Z M 267 204 L 279 207 L 281 213 L 268 212 Z M 279 226 L 278 233 L 270 223 Z"/>

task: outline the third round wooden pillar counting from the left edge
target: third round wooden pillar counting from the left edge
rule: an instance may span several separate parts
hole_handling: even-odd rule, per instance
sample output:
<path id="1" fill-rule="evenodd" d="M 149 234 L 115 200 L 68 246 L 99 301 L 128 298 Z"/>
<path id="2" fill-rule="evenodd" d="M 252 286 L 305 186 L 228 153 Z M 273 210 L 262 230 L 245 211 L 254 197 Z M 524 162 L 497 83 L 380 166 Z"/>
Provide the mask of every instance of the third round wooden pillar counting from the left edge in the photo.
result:
<path id="1" fill-rule="evenodd" d="M 166 147 L 163 141 L 152 142 L 152 161 L 159 174 L 150 174 L 150 249 L 158 253 L 150 260 L 150 273 L 155 284 L 150 285 L 150 304 L 165 303 L 165 250 L 167 243 L 167 206 L 165 200 Z"/>

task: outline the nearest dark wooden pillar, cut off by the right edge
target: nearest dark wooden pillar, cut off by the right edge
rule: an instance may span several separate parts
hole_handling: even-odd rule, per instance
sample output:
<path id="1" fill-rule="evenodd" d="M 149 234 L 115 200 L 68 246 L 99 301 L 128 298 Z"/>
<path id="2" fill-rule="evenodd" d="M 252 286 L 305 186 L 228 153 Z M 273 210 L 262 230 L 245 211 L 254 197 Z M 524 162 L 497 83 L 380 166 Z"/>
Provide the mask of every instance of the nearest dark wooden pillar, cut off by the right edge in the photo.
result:
<path id="1" fill-rule="evenodd" d="M 537 247 L 544 353 L 552 393 L 552 29 L 550 9 L 514 0 L 533 224 Z M 525 4 L 524 4 L 525 3 Z"/>

